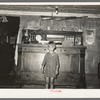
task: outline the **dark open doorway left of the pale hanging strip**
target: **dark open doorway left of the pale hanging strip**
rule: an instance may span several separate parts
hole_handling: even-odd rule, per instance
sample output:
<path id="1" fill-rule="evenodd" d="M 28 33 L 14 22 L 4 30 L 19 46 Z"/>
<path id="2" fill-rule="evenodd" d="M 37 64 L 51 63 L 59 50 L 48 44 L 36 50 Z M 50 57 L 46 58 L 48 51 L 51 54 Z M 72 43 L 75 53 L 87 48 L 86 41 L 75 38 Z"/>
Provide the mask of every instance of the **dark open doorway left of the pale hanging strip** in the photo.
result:
<path id="1" fill-rule="evenodd" d="M 19 30 L 19 17 L 6 16 L 8 22 L 0 21 L 0 80 L 8 79 L 14 71 L 15 46 Z"/>

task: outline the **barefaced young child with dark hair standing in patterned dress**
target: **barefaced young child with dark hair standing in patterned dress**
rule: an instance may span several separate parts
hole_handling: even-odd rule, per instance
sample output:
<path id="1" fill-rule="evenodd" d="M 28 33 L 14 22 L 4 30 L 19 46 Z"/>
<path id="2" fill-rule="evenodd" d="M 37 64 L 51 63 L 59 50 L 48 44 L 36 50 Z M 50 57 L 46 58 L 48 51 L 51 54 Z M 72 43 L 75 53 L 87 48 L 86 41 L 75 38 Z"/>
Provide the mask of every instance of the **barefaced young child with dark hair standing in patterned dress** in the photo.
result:
<path id="1" fill-rule="evenodd" d="M 45 54 L 42 62 L 42 73 L 46 80 L 46 88 L 54 88 L 54 78 L 58 75 L 58 68 L 60 67 L 59 56 L 54 52 L 56 44 L 53 41 L 48 43 L 49 52 Z"/>

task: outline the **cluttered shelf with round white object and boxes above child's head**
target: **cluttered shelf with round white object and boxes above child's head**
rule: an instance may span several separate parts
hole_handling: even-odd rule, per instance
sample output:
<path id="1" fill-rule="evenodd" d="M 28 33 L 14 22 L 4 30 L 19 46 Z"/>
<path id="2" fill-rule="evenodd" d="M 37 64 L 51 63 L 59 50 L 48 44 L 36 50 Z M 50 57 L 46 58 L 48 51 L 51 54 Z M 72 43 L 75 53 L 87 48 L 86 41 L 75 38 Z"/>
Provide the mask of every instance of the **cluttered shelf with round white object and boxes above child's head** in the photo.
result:
<path id="1" fill-rule="evenodd" d="M 22 30 L 22 44 L 44 44 L 54 41 L 62 46 L 82 46 L 83 32 L 55 30 Z"/>

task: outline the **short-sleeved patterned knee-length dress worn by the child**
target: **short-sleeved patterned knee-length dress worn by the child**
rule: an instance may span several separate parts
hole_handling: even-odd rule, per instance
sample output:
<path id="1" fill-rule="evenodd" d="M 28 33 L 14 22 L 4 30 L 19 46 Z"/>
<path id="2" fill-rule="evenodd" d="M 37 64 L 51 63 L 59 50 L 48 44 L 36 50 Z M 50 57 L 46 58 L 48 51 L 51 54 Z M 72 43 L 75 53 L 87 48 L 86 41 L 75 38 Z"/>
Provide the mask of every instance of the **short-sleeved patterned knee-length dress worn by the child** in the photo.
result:
<path id="1" fill-rule="evenodd" d="M 44 60 L 42 62 L 42 66 L 44 66 L 44 77 L 56 77 L 56 69 L 59 67 L 59 56 L 54 53 L 46 53 Z"/>

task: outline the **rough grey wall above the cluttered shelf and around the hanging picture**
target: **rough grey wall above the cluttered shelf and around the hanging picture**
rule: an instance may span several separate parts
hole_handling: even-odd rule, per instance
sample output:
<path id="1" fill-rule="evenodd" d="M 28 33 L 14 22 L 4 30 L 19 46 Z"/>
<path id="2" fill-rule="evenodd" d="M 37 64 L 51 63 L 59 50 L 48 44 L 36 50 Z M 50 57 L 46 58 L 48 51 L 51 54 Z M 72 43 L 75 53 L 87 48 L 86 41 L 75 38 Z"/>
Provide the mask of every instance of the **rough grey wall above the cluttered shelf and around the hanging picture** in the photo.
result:
<path id="1" fill-rule="evenodd" d="M 68 20 L 45 20 L 37 16 L 21 16 L 20 27 L 22 29 L 46 29 L 46 30 L 66 30 L 66 31 L 83 31 L 83 43 L 87 47 L 85 55 L 85 72 L 97 74 L 97 64 L 100 60 L 100 19 L 78 18 Z M 95 30 L 94 43 L 86 43 L 86 30 Z"/>

